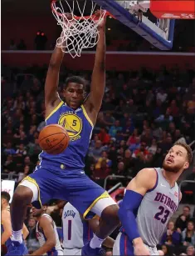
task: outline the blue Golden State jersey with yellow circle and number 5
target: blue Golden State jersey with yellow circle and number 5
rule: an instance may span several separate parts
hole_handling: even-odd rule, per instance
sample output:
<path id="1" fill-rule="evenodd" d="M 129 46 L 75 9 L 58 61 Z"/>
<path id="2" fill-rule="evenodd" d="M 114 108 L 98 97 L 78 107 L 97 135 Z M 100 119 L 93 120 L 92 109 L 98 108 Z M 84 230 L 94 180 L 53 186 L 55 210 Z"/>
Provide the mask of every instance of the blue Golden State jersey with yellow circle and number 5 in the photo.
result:
<path id="1" fill-rule="evenodd" d="M 64 168 L 84 168 L 85 155 L 87 153 L 90 138 L 93 130 L 93 123 L 90 121 L 83 105 L 76 110 L 68 107 L 62 102 L 46 118 L 46 125 L 59 124 L 66 129 L 70 143 L 60 154 L 51 155 L 43 151 L 40 154 L 41 164 L 55 162 Z"/>

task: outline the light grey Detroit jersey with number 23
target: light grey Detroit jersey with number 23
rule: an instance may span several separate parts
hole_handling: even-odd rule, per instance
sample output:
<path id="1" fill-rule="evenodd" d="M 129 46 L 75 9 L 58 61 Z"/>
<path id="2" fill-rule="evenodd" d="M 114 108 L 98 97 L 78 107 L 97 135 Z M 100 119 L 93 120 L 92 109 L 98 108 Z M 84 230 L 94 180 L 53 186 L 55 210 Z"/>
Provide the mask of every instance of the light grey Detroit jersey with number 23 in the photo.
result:
<path id="1" fill-rule="evenodd" d="M 163 177 L 162 169 L 155 170 L 157 182 L 154 188 L 144 195 L 136 218 L 140 237 L 150 247 L 156 247 L 158 244 L 168 220 L 177 210 L 179 203 L 178 184 L 175 183 L 171 188 Z"/>

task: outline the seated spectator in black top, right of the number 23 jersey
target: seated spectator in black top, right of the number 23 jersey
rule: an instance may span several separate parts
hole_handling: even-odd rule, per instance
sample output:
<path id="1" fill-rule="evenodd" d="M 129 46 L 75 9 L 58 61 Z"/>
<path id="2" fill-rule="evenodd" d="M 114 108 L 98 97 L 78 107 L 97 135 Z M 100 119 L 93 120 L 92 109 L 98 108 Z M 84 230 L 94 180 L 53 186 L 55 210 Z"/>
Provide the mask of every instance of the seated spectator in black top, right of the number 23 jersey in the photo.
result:
<path id="1" fill-rule="evenodd" d="M 190 220 L 190 217 L 190 207 L 186 205 L 183 207 L 183 213 L 178 216 L 175 222 L 175 227 L 179 233 L 187 228 L 187 223 Z"/>

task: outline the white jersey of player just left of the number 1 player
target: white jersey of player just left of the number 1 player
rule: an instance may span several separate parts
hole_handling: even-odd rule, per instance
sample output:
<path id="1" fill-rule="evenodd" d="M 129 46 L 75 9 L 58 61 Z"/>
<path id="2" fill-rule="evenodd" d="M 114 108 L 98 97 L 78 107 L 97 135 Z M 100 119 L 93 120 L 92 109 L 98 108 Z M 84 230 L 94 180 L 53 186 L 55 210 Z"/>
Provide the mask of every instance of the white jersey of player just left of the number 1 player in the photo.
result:
<path id="1" fill-rule="evenodd" d="M 42 216 L 51 218 L 51 216 L 46 213 L 42 214 Z M 63 255 L 63 250 L 61 248 L 61 242 L 59 240 L 57 229 L 56 229 L 56 223 L 53 221 L 53 219 L 52 219 L 52 223 L 53 223 L 53 229 L 54 229 L 55 236 L 56 236 L 56 245 L 55 245 L 55 247 L 53 247 L 51 249 L 51 251 L 47 252 L 47 255 Z M 42 246 L 44 243 L 46 243 L 46 237 L 45 237 L 45 234 L 43 233 L 43 231 L 41 230 L 41 228 L 39 227 L 39 222 L 37 222 L 36 233 L 37 233 L 37 239 L 40 243 L 40 246 Z"/>

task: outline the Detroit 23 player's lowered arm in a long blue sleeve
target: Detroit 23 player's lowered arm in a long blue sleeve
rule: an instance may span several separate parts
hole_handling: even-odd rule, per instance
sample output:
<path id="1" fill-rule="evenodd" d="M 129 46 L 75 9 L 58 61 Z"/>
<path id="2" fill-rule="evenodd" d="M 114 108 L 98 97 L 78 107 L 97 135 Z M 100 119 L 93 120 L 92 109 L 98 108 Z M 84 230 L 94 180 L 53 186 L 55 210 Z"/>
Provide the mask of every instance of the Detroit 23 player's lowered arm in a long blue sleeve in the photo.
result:
<path id="1" fill-rule="evenodd" d="M 157 173 L 154 168 L 144 168 L 130 181 L 124 194 L 123 203 L 119 208 L 119 219 L 125 228 L 129 240 L 134 244 L 135 255 L 149 255 L 149 250 L 140 238 L 136 216 L 145 193 L 154 188 Z"/>

